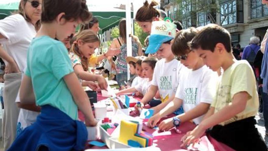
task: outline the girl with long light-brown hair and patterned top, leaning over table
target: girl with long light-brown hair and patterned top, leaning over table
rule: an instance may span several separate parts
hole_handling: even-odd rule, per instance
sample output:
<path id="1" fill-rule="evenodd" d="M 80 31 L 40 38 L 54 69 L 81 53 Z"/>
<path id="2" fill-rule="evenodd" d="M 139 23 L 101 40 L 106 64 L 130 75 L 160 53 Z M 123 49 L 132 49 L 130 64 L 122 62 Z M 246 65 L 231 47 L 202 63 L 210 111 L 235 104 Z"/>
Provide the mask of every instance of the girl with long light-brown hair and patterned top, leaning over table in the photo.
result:
<path id="1" fill-rule="evenodd" d="M 93 31 L 81 31 L 76 35 L 76 40 L 72 44 L 69 57 L 72 61 L 73 70 L 82 86 L 91 86 L 90 81 L 98 81 L 100 88 L 106 89 L 108 84 L 103 76 L 88 72 L 88 58 L 94 53 L 94 50 L 99 47 L 99 44 L 99 38 Z"/>

